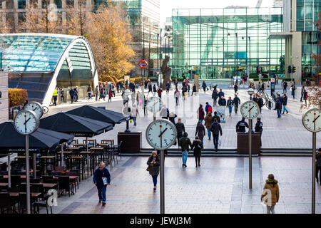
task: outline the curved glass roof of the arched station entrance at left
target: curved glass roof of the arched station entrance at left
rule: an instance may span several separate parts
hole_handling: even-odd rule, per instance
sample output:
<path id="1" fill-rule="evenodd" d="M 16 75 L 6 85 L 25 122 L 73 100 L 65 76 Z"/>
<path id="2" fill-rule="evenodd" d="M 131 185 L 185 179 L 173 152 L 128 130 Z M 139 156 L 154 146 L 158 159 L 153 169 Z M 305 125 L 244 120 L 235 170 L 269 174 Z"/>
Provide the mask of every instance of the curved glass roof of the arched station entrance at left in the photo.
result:
<path id="1" fill-rule="evenodd" d="M 78 36 L 44 33 L 0 35 L 2 68 L 10 72 L 53 72 L 63 52 L 75 38 Z M 85 63 L 80 65 L 88 68 L 88 53 L 81 44 L 82 46 L 76 45 L 75 48 L 85 49 L 78 53 L 78 57 L 86 56 L 85 61 L 80 61 Z"/>

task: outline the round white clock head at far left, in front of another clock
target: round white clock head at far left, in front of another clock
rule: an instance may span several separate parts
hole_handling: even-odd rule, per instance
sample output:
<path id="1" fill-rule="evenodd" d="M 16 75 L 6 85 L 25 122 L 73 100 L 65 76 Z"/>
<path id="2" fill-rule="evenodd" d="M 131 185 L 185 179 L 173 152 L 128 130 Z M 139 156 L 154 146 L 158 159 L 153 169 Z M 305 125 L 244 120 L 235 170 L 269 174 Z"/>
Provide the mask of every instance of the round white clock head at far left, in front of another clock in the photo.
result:
<path id="1" fill-rule="evenodd" d="M 21 110 L 14 118 L 14 128 L 21 135 L 30 135 L 39 128 L 39 118 L 34 111 Z"/>

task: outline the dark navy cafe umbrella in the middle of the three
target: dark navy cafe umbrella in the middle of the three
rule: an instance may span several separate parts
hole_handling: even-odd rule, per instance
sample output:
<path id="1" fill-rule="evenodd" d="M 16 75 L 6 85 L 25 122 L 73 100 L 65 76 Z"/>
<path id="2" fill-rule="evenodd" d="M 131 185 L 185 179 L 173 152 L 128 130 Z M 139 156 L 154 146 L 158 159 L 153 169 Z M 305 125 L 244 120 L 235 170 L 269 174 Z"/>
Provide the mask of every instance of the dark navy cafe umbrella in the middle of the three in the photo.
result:
<path id="1" fill-rule="evenodd" d="M 40 120 L 40 128 L 71 134 L 75 137 L 86 137 L 87 142 L 88 137 L 92 138 L 94 135 L 113 130 L 113 125 L 61 112 L 42 118 Z"/>

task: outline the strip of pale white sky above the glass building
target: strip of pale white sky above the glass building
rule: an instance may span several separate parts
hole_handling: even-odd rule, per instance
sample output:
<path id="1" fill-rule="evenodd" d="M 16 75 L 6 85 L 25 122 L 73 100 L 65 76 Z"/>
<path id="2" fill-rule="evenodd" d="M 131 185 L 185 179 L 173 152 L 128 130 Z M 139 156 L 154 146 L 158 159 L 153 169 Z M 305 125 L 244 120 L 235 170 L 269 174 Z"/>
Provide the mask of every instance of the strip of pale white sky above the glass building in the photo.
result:
<path id="1" fill-rule="evenodd" d="M 161 26 L 166 17 L 172 16 L 172 9 L 200 9 L 200 8 L 225 8 L 226 6 L 255 7 L 258 0 L 160 0 L 161 1 Z M 261 7 L 270 7 L 273 0 L 263 0 Z"/>

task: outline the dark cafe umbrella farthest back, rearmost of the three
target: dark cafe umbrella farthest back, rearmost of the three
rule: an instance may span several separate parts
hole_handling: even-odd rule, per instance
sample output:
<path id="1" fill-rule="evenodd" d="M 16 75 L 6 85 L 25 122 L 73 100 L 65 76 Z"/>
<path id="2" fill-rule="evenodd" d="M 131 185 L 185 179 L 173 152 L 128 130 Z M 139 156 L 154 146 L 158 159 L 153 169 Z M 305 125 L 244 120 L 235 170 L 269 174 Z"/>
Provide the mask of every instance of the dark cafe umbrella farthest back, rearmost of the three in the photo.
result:
<path id="1" fill-rule="evenodd" d="M 84 118 L 99 120 L 105 123 L 111 123 L 113 126 L 115 126 L 116 124 L 123 123 L 124 121 L 129 119 L 129 116 L 123 115 L 123 113 L 118 113 L 112 110 L 105 110 L 102 108 L 96 108 L 90 105 L 84 105 L 80 108 L 75 108 L 66 113 L 78 115 Z"/>

